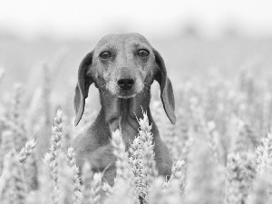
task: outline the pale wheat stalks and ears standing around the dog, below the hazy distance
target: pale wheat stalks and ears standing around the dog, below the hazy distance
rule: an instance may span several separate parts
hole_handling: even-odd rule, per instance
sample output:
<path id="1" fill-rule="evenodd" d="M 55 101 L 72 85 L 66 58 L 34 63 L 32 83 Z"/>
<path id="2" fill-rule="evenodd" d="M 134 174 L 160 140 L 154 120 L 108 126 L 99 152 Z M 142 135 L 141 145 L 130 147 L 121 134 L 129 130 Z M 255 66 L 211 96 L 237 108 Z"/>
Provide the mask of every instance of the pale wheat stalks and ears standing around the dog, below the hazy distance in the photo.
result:
<path id="1" fill-rule="evenodd" d="M 68 91 L 55 92 L 53 63 L 40 64 L 35 78 L 40 83 L 31 94 L 24 83 L 14 83 L 1 100 L 1 204 L 272 202 L 272 76 L 259 71 L 261 64 L 249 61 L 233 77 L 209 69 L 205 77 L 175 81 L 175 126 L 154 84 L 151 113 L 174 161 L 170 180 L 158 176 L 152 124 L 144 114 L 129 152 L 121 132 L 112 132 L 117 177 L 111 187 L 102 173 L 92 172 L 92 164 L 79 175 L 73 139 L 92 123 L 97 105 L 88 99 L 74 128 L 66 106 L 73 101 L 73 83 L 63 78 L 57 84 L 67 84 Z M 7 73 L 0 69 L 0 87 Z"/>

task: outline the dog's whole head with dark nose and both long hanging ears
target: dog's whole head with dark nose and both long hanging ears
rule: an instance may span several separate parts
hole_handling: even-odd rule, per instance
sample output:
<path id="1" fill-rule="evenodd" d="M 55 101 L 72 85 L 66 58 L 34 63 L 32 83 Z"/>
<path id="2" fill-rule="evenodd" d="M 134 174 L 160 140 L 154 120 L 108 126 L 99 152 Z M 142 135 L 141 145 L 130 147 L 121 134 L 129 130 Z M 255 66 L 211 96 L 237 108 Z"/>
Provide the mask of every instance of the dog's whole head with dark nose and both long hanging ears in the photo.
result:
<path id="1" fill-rule="evenodd" d="M 160 83 L 164 110 L 174 124 L 174 94 L 160 53 L 141 34 L 104 36 L 79 67 L 74 96 L 75 125 L 82 118 L 92 83 L 101 90 L 128 99 L 142 92 L 145 86 L 149 87 L 154 79 Z"/>

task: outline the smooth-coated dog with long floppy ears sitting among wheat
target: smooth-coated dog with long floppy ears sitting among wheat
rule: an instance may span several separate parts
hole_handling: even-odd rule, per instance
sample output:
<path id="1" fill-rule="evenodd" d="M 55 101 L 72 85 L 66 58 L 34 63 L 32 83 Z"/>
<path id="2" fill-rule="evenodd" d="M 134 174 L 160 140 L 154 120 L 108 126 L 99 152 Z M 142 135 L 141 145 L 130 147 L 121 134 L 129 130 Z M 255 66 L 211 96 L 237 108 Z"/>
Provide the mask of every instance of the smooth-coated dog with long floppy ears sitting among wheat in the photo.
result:
<path id="1" fill-rule="evenodd" d="M 101 110 L 89 129 L 74 141 L 76 161 L 80 170 L 84 161 L 94 172 L 102 171 L 111 186 L 116 176 L 112 153 L 112 131 L 121 130 L 128 151 L 138 135 L 138 118 L 147 112 L 152 124 L 156 167 L 159 175 L 170 176 L 172 160 L 167 146 L 160 139 L 158 127 L 151 116 L 151 84 L 160 84 L 160 98 L 172 124 L 176 122 L 175 100 L 165 63 L 141 34 L 108 34 L 87 53 L 80 63 L 75 88 L 75 126 L 83 116 L 85 99 L 93 83 L 99 90 Z"/>

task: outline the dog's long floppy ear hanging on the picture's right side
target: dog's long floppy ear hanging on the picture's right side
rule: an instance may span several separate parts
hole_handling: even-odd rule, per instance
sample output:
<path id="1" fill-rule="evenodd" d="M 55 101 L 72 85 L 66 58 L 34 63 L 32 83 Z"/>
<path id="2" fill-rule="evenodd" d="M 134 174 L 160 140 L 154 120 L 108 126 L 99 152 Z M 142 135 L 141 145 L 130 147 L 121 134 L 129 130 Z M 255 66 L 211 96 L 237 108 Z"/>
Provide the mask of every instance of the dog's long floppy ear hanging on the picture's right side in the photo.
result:
<path id="1" fill-rule="evenodd" d="M 155 61 L 158 65 L 157 71 L 155 72 L 154 78 L 160 84 L 160 99 L 163 104 L 164 111 L 172 124 L 176 123 L 175 115 L 175 98 L 170 79 L 166 73 L 166 67 L 160 53 L 152 48 L 155 55 Z"/>

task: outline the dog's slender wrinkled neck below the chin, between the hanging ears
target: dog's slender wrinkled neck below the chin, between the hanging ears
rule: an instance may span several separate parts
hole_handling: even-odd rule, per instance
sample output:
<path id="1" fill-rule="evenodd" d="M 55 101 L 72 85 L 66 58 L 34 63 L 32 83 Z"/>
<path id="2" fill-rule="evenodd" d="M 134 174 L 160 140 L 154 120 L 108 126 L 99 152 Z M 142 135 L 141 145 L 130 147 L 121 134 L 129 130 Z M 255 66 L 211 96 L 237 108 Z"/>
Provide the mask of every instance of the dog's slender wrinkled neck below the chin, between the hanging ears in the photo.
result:
<path id="1" fill-rule="evenodd" d="M 149 107 L 151 101 L 149 90 L 140 92 L 129 99 L 121 99 L 107 92 L 100 92 L 100 97 L 102 109 L 97 121 L 102 121 L 107 126 L 102 128 L 108 129 L 109 136 L 112 131 L 120 129 L 126 147 L 138 135 L 140 127 L 138 119 L 143 117 L 143 112 L 147 112 L 150 123 L 154 124 Z"/>

